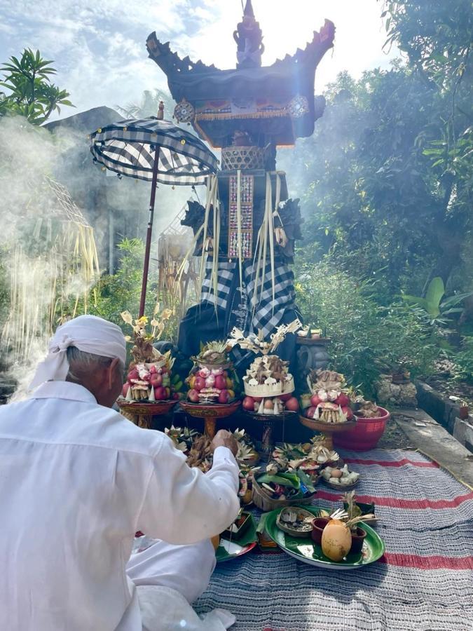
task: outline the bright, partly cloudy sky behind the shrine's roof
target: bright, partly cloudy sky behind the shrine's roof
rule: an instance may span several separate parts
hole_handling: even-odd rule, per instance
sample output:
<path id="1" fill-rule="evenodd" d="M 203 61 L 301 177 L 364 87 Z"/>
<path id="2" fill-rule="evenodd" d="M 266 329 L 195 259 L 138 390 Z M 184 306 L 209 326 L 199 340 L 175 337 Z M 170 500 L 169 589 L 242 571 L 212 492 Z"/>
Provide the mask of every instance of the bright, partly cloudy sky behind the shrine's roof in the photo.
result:
<path id="1" fill-rule="evenodd" d="M 397 50 L 383 51 L 385 28 L 380 0 L 253 0 L 263 30 L 263 65 L 303 48 L 324 18 L 336 25 L 333 53 L 317 69 L 322 93 L 338 72 L 356 78 L 365 69 L 388 68 Z M 166 87 L 166 79 L 146 52 L 146 37 L 170 41 L 172 50 L 217 67 L 235 67 L 233 30 L 242 17 L 241 0 L 1 0 L 0 62 L 25 47 L 54 60 L 55 83 L 67 89 L 71 116 L 91 107 L 125 106 L 144 90 Z"/>

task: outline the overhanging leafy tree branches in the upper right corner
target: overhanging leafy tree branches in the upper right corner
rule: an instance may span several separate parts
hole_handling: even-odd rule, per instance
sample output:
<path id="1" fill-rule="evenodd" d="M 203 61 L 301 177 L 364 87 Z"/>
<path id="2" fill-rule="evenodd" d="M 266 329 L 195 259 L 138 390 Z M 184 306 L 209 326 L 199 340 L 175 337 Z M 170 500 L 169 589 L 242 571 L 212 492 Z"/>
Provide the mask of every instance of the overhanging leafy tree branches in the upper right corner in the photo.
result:
<path id="1" fill-rule="evenodd" d="M 469 0 L 386 0 L 389 45 L 395 41 L 434 94 L 437 137 L 419 139 L 443 194 L 444 212 L 460 232 L 471 229 L 473 201 L 473 12 Z M 427 141 L 427 142 L 424 142 Z M 447 260 L 431 278 L 447 280 Z"/>

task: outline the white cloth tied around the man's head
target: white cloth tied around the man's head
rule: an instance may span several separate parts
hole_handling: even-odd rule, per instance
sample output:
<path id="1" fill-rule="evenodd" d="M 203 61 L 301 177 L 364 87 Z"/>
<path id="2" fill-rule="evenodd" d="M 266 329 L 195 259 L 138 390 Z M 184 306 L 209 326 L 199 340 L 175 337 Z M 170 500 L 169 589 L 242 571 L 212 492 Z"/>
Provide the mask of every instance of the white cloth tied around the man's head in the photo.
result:
<path id="1" fill-rule="evenodd" d="M 46 359 L 36 368 L 30 390 L 44 381 L 66 380 L 69 346 L 76 346 L 79 351 L 92 355 L 118 358 L 125 365 L 126 346 L 121 328 L 95 315 L 79 315 L 57 328 L 49 343 Z"/>

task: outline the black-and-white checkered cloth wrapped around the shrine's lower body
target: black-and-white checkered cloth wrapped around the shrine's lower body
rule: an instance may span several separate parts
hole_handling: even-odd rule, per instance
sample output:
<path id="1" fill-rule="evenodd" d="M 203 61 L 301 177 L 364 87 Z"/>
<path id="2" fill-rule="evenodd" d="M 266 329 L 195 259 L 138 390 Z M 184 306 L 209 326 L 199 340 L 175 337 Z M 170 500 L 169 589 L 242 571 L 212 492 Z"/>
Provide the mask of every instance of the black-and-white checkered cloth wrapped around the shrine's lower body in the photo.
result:
<path id="1" fill-rule="evenodd" d="M 212 276 L 212 261 L 207 260 L 205 278 L 200 292 L 200 301 L 209 301 L 217 304 L 226 311 L 229 300 L 233 299 L 233 292 L 239 287 L 238 261 L 219 261 L 217 295 L 214 294 Z M 273 284 L 271 281 L 270 262 L 266 263 L 263 273 L 263 292 L 261 294 L 261 271 L 258 287 L 255 290 L 256 264 L 245 261 L 242 264 L 243 287 L 247 300 L 248 314 L 245 324 L 240 327 L 245 333 L 258 333 L 268 338 L 274 332 L 275 327 L 282 323 L 285 311 L 295 309 L 294 273 L 289 265 L 275 262 L 275 292 L 273 298 Z"/>

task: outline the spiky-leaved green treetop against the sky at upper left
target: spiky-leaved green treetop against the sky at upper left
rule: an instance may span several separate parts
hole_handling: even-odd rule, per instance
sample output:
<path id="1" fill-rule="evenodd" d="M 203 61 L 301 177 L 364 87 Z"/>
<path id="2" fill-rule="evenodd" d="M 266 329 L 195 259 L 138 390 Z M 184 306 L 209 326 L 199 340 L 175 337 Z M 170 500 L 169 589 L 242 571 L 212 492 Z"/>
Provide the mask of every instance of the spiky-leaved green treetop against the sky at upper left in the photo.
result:
<path id="1" fill-rule="evenodd" d="M 30 123 L 42 125 L 53 111 L 61 111 L 61 105 L 74 107 L 69 101 L 67 90 L 52 83 L 50 76 L 56 73 L 51 60 L 25 48 L 20 59 L 11 57 L 0 70 L 4 80 L 0 86 L 8 93 L 0 93 L 0 116 L 19 114 Z"/>

